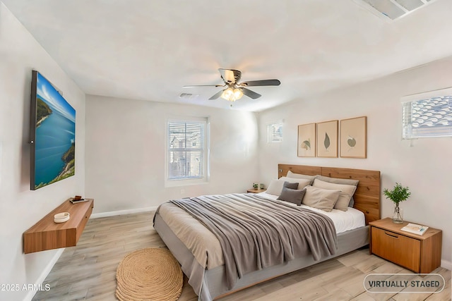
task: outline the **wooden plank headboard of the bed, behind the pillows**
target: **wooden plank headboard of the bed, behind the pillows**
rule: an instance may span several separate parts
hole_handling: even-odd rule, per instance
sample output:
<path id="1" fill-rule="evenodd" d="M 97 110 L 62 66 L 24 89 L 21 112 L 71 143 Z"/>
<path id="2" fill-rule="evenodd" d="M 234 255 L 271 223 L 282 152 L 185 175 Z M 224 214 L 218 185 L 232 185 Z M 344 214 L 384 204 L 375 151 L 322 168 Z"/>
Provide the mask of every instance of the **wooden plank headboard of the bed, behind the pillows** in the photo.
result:
<path id="1" fill-rule="evenodd" d="M 278 178 L 287 176 L 287 171 L 302 173 L 309 176 L 327 176 L 359 180 L 358 187 L 353 195 L 354 208 L 362 211 L 366 217 L 366 225 L 370 221 L 380 219 L 380 171 L 367 171 L 364 169 L 321 167 L 307 165 L 278 164 Z"/>

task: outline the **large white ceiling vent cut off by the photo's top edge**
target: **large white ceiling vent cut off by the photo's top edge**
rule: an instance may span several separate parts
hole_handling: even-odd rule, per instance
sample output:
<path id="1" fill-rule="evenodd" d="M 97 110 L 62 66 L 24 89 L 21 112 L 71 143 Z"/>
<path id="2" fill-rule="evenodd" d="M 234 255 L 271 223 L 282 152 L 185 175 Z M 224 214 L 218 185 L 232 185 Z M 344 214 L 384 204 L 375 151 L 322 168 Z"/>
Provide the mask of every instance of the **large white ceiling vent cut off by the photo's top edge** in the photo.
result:
<path id="1" fill-rule="evenodd" d="M 398 20 L 434 0 L 353 0 L 386 20 Z"/>

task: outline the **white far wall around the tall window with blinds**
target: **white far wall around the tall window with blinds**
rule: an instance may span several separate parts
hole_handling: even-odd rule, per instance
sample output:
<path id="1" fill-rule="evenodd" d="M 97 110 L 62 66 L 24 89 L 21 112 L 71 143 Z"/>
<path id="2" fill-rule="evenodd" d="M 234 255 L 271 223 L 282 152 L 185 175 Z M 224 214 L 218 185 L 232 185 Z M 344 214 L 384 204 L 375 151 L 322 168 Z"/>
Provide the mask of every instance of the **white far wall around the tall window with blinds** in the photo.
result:
<path id="1" fill-rule="evenodd" d="M 167 118 L 208 117 L 210 180 L 165 188 Z M 257 174 L 256 114 L 87 95 L 86 195 L 94 214 L 155 208 L 169 199 L 246 192 Z"/>

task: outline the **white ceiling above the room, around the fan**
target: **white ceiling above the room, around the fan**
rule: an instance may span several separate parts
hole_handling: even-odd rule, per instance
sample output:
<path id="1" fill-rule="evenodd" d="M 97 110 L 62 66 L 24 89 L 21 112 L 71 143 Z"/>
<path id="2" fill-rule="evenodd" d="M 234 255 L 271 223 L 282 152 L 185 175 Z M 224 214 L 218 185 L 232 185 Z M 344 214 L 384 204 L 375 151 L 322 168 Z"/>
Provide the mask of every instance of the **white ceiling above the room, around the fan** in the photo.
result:
<path id="1" fill-rule="evenodd" d="M 452 56 L 451 0 L 393 22 L 354 0 L 1 1 L 86 94 L 109 97 L 227 108 L 208 100 L 219 87 L 182 86 L 236 68 L 281 81 L 233 104 L 262 111 Z"/>

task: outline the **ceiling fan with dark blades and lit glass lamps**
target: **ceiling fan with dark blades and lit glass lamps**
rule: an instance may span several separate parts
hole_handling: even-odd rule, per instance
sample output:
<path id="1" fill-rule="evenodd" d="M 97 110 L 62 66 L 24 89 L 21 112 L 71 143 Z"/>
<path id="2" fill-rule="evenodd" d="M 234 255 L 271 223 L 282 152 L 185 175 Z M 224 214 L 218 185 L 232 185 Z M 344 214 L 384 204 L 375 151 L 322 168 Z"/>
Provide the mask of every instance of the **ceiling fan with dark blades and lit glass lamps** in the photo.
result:
<path id="1" fill-rule="evenodd" d="M 191 85 L 184 87 L 225 87 L 225 89 L 210 97 L 209 100 L 222 97 L 230 102 L 235 102 L 237 99 L 242 98 L 243 95 L 251 99 L 258 99 L 262 96 L 246 87 L 279 86 L 281 83 L 279 80 L 249 80 L 248 82 L 239 82 L 242 77 L 241 71 L 225 68 L 218 68 L 218 71 L 220 71 L 221 78 L 225 82 L 224 85 Z"/>

